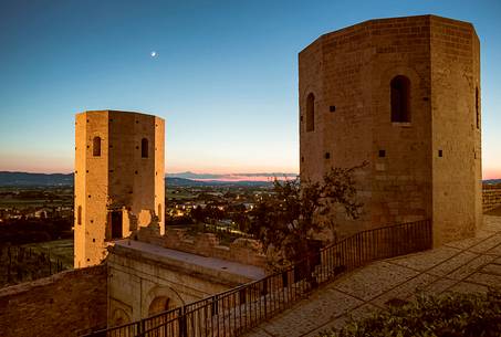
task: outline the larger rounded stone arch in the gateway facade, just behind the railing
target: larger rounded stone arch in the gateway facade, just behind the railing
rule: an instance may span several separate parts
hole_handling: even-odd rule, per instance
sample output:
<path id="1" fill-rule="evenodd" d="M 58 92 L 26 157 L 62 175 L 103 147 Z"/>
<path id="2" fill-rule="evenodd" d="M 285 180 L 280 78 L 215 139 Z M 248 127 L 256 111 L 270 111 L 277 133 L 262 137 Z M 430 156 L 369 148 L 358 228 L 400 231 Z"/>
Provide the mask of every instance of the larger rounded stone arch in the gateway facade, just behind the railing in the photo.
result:
<path id="1" fill-rule="evenodd" d="M 185 305 L 185 301 L 175 289 L 169 286 L 158 285 L 153 287 L 143 299 L 142 317 L 148 317 L 181 305 Z"/>

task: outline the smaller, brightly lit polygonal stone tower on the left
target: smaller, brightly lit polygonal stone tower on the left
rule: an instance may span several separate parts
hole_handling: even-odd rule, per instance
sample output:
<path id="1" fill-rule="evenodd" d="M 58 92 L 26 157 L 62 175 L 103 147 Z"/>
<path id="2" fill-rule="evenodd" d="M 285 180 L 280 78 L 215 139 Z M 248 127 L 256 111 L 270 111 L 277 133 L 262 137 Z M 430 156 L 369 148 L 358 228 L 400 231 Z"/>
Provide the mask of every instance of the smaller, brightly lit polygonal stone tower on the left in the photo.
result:
<path id="1" fill-rule="evenodd" d="M 96 110 L 75 122 L 75 267 L 158 217 L 165 231 L 164 119 Z"/>

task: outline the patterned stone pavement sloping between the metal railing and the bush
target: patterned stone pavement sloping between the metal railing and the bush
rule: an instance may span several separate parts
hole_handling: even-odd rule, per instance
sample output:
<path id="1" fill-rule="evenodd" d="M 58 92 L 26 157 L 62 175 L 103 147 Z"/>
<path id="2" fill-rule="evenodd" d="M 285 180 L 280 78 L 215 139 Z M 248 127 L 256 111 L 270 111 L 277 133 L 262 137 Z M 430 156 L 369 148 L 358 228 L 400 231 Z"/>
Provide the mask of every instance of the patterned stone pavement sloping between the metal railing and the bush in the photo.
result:
<path id="1" fill-rule="evenodd" d="M 362 318 L 388 301 L 428 294 L 487 292 L 501 286 L 501 217 L 484 215 L 476 238 L 427 252 L 372 263 L 313 292 L 251 330 L 248 337 L 317 336 Z"/>

